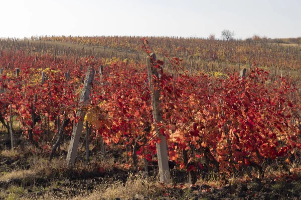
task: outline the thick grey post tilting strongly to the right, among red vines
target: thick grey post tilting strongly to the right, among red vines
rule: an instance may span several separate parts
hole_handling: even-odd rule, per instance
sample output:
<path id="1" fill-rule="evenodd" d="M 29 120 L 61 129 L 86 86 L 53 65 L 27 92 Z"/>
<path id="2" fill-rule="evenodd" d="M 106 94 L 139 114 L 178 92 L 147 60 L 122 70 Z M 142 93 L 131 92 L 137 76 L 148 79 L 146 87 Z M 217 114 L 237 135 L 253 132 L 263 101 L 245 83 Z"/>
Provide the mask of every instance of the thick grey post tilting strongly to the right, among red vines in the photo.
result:
<path id="1" fill-rule="evenodd" d="M 89 99 L 93 78 L 94 78 L 94 69 L 93 69 L 93 66 L 89 66 L 87 69 L 86 78 L 84 81 L 84 87 L 83 87 L 83 90 L 81 91 L 80 98 L 79 98 L 80 104 L 86 103 L 86 101 Z M 77 123 L 74 123 L 74 126 L 73 126 L 71 141 L 70 141 L 67 159 L 66 159 L 68 167 L 72 167 L 75 162 L 80 134 L 83 129 L 85 114 L 86 113 L 82 108 L 78 109 L 78 111 L 76 113 L 76 116 L 79 116 L 80 118 Z"/>

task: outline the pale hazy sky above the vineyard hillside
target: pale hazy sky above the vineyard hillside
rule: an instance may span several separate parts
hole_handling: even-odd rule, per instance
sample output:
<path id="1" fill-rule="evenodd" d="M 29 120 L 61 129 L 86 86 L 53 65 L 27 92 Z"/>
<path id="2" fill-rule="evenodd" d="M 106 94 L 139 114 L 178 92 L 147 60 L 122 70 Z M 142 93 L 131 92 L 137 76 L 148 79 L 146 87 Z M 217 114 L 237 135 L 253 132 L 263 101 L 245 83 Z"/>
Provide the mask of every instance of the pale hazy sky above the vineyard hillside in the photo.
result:
<path id="1" fill-rule="evenodd" d="M 0 0 L 0 37 L 301 36 L 301 0 Z"/>

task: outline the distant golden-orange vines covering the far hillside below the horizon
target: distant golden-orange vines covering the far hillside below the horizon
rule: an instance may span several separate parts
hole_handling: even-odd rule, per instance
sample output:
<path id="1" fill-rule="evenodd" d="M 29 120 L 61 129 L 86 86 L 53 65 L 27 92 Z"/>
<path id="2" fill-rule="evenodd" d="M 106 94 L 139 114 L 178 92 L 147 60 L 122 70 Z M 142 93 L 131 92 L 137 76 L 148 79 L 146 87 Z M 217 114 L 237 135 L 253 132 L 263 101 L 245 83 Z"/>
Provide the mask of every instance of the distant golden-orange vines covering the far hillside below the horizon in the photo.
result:
<path id="1" fill-rule="evenodd" d="M 41 36 L 36 39 L 141 51 L 140 39 L 135 36 Z M 247 65 L 251 65 L 253 60 L 264 67 L 294 70 L 301 64 L 301 47 L 298 44 L 221 41 L 194 37 L 149 37 L 149 40 L 155 52 L 161 53 L 162 49 L 166 49 L 168 54 L 183 59 L 226 61 Z"/>

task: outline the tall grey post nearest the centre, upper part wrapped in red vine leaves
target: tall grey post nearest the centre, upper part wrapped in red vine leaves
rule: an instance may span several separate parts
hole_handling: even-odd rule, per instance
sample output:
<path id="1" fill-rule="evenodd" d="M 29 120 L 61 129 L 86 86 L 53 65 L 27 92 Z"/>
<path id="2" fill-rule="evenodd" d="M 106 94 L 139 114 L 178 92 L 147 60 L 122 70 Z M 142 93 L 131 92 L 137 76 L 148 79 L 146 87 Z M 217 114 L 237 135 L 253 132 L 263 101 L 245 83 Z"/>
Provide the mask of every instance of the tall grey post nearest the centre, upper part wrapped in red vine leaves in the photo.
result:
<path id="1" fill-rule="evenodd" d="M 167 153 L 167 144 L 166 138 L 164 135 L 161 134 L 159 131 L 159 127 L 157 125 L 157 121 L 162 121 L 161 115 L 161 106 L 160 106 L 160 89 L 159 82 L 157 80 L 154 81 L 155 85 L 153 84 L 152 76 L 155 75 L 159 79 L 159 73 L 156 67 L 154 67 L 154 61 L 157 60 L 156 54 L 152 53 L 146 58 L 147 60 L 147 73 L 148 73 L 148 82 L 150 91 L 152 91 L 152 105 L 153 105 L 153 118 L 154 124 L 156 127 L 156 132 L 158 132 L 158 136 L 161 139 L 160 143 L 157 143 L 157 154 L 158 154 L 158 164 L 159 164 L 159 173 L 160 173 L 160 181 L 165 182 L 166 184 L 170 184 L 170 170 L 168 165 L 168 153 Z M 161 69 L 162 70 L 162 69 Z"/>

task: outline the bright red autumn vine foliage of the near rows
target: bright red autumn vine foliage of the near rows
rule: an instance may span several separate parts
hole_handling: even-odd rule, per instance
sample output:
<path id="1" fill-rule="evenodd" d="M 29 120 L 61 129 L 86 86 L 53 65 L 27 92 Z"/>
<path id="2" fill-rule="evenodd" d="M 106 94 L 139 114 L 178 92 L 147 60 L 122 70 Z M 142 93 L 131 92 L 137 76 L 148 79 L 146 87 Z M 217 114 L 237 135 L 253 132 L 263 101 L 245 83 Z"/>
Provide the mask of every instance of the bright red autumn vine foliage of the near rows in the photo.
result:
<path id="1" fill-rule="evenodd" d="M 145 49 L 150 53 L 146 44 Z M 202 72 L 188 75 L 181 59 L 167 54 L 174 74 L 164 71 L 163 61 L 155 61 L 160 76 L 153 81 L 160 83 L 155 89 L 161 93 L 163 118 L 156 131 L 145 64 L 115 61 L 98 75 L 105 60 L 92 56 L 74 60 L 22 50 L 0 53 L 0 121 L 9 132 L 11 108 L 24 136 L 37 145 L 56 137 L 57 124 L 66 118 L 65 134 L 70 135 L 79 120 L 76 110 L 82 108 L 92 125 L 90 139 L 121 146 L 135 169 L 140 159 L 157 159 L 159 133 L 166 137 L 169 160 L 196 175 L 206 169 L 226 176 L 245 170 L 252 176 L 250 167 L 264 175 L 270 160 L 298 159 L 299 85 L 289 76 L 270 79 L 255 62 L 244 77 L 229 73 L 219 78 Z M 82 105 L 79 93 L 89 66 L 96 72 L 89 103 Z"/>

